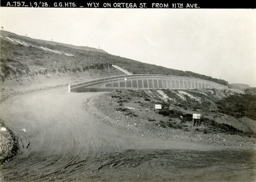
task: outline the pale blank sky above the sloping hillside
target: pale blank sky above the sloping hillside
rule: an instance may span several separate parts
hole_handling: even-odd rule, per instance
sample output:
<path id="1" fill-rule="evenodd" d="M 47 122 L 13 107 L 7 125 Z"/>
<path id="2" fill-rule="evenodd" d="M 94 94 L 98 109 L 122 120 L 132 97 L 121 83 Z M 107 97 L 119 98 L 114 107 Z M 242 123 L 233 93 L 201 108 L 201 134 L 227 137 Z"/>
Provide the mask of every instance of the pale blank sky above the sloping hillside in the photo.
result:
<path id="1" fill-rule="evenodd" d="M 4 30 L 256 86 L 254 9 L 4 8 Z"/>

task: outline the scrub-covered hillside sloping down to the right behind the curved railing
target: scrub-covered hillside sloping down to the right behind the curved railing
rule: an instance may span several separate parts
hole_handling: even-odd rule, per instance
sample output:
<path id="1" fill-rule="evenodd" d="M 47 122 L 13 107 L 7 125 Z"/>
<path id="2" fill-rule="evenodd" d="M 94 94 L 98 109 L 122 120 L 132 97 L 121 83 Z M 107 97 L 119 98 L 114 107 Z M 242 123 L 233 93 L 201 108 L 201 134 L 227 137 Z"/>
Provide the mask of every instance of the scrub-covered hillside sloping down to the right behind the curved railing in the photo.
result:
<path id="1" fill-rule="evenodd" d="M 23 77 L 36 77 L 46 74 L 70 74 L 88 72 L 97 75 L 102 70 L 112 70 L 115 75 L 123 75 L 112 64 L 123 67 L 132 74 L 162 74 L 195 77 L 228 85 L 225 80 L 211 78 L 189 71 L 168 69 L 163 66 L 142 63 L 106 53 L 103 50 L 38 40 L 1 31 L 1 80 Z M 26 44 L 20 44 L 6 37 L 14 38 Z M 40 48 L 43 47 L 43 48 Z M 52 51 L 47 51 L 45 49 Z M 53 52 L 55 51 L 55 52 Z M 57 52 L 61 54 L 57 54 Z M 73 56 L 67 56 L 72 54 Z M 102 76 L 102 75 L 101 75 Z M 110 76 L 110 75 L 105 75 Z M 112 75 L 111 75 L 112 76 Z"/>

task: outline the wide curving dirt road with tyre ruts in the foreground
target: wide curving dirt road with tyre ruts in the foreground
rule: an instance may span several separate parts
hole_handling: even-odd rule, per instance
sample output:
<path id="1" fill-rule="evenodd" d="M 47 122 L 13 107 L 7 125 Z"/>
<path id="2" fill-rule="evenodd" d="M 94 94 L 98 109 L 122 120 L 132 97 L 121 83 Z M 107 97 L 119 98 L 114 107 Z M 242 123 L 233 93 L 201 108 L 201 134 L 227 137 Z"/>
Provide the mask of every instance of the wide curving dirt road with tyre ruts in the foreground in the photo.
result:
<path id="1" fill-rule="evenodd" d="M 67 88 L 15 96 L 1 118 L 19 154 L 2 166 L 4 181 L 255 180 L 255 151 L 145 139 L 95 119 L 84 106 L 103 93 Z"/>

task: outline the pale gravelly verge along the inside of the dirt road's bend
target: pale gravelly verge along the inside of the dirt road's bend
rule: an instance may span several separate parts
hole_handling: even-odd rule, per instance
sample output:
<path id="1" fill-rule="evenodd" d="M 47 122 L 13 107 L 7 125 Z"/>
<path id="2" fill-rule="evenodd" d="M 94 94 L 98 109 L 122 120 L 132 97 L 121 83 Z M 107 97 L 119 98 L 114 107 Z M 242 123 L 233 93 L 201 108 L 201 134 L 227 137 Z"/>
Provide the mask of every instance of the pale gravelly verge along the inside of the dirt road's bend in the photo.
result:
<path id="1" fill-rule="evenodd" d="M 141 105 L 142 102 L 147 101 L 131 98 L 131 96 L 130 99 L 127 99 L 129 96 L 126 94 L 110 93 L 102 95 L 89 101 L 87 108 L 95 117 L 106 123 L 140 134 L 144 138 L 161 138 L 170 141 L 191 142 L 191 144 L 202 143 L 238 148 L 255 147 L 256 139 L 251 136 L 244 136 L 244 132 L 229 133 L 220 128 L 209 128 L 203 122 L 200 126 L 193 126 L 192 118 L 186 122 L 181 122 L 181 118 L 166 118 L 159 115 L 159 111 L 154 106 L 144 107 L 144 105 Z M 122 100 L 126 98 L 127 102 L 120 104 L 119 96 L 122 97 Z M 228 116 L 225 117 L 225 120 L 229 118 Z M 177 126 L 174 127 L 174 124 L 168 126 L 168 123 L 169 125 L 175 123 Z"/>

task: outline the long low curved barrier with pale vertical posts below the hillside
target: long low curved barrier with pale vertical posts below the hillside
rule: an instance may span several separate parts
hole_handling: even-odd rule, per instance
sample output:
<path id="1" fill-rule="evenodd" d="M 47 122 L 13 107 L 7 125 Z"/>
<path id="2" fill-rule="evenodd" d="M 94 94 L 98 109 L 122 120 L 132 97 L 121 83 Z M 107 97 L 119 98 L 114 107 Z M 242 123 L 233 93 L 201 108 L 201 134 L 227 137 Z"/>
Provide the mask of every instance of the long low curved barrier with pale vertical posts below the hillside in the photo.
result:
<path id="1" fill-rule="evenodd" d="M 99 92 L 120 89 L 196 89 L 227 88 L 199 78 L 168 75 L 122 75 L 69 85 L 70 92 Z"/>

